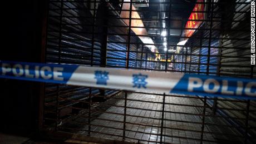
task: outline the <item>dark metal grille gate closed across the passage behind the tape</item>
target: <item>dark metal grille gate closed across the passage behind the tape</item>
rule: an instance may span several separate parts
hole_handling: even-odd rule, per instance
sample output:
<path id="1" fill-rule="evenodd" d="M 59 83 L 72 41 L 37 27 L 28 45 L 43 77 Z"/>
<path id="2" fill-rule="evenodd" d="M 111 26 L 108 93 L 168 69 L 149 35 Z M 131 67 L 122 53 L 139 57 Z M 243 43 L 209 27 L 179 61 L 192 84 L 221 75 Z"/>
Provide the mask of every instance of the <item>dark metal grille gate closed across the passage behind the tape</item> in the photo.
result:
<path id="1" fill-rule="evenodd" d="M 46 62 L 255 78 L 249 12 L 243 0 L 50 0 Z M 43 127 L 142 143 L 255 143 L 255 106 L 48 83 Z"/>

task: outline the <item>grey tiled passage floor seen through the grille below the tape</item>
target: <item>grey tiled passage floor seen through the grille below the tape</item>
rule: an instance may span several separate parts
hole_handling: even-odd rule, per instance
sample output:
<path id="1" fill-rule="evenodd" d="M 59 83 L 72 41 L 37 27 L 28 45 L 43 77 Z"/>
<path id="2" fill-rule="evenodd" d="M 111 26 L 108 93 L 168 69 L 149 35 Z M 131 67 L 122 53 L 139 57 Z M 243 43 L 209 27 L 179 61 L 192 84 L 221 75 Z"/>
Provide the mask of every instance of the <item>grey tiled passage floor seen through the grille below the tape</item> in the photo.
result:
<path id="1" fill-rule="evenodd" d="M 116 98 L 124 98 L 124 93 L 120 93 L 115 96 Z M 129 93 L 127 95 L 127 110 L 126 110 L 126 133 L 125 136 L 128 137 L 126 140 L 138 142 L 138 140 L 152 141 L 149 143 L 155 143 L 153 141 L 160 142 L 161 133 L 161 120 L 155 120 L 154 118 L 161 118 L 161 110 L 163 105 L 157 102 L 163 102 L 163 96 L 157 95 L 144 95 L 140 93 Z M 136 100 L 136 101 L 134 101 Z M 149 102 L 156 103 L 149 103 Z M 203 106 L 203 102 L 193 98 L 181 98 L 181 97 L 169 97 L 166 96 L 166 103 L 175 104 L 185 104 L 185 105 L 198 105 Z M 97 105 L 92 108 L 92 110 L 101 110 L 103 112 L 92 112 L 92 116 L 97 118 L 92 118 L 91 121 L 91 136 L 105 137 L 122 139 L 124 128 L 124 100 L 118 100 L 111 98 L 104 102 L 106 105 Z M 115 105 L 115 106 L 108 106 Z M 121 107 L 120 107 L 121 106 Z M 165 105 L 163 129 L 163 142 L 166 143 L 200 143 L 201 136 L 201 125 L 191 122 L 202 122 L 200 116 L 196 115 L 185 115 L 181 113 L 202 113 L 202 108 L 188 107 L 188 106 L 177 106 L 177 105 Z M 180 112 L 180 113 L 176 113 Z M 114 114 L 117 113 L 117 114 Z M 121 114 L 121 115 L 118 115 Z M 73 117 L 72 121 L 76 122 L 87 122 L 87 120 L 80 116 L 88 115 L 87 112 L 80 113 L 77 117 Z M 106 120 L 102 120 L 106 119 Z M 175 120 L 175 121 L 174 121 Z M 177 122 L 179 121 L 179 122 Z M 187 122 L 184 122 L 187 121 Z M 190 123 L 188 123 L 190 122 Z M 100 126 L 99 126 L 100 125 Z M 64 125 L 67 126 L 67 125 Z M 70 125 L 69 125 L 70 126 Z M 80 127 L 81 128 L 81 125 Z M 171 129 L 170 129 L 171 128 Z M 180 129 L 185 129 L 188 131 L 183 131 Z M 83 125 L 79 133 L 87 134 L 87 125 Z M 192 130 L 192 131 L 189 131 Z M 196 132 L 195 132 L 196 131 Z M 205 132 L 210 131 L 206 126 L 204 128 Z M 110 135 L 102 134 L 108 133 Z M 180 138 L 184 137 L 184 138 Z M 193 140 L 197 139 L 197 140 Z M 207 141 L 216 141 L 214 135 L 210 133 L 204 133 L 204 143 L 213 143 Z M 140 141 L 142 143 L 147 143 L 145 141 Z"/>

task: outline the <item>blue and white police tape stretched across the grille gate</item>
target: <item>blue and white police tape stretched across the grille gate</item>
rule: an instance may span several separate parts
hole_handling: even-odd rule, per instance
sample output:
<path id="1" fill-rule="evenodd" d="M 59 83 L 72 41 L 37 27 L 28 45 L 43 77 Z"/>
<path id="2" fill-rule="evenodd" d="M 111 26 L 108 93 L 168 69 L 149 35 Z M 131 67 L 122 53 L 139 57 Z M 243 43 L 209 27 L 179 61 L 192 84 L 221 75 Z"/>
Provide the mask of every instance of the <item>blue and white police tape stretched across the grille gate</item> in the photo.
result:
<path id="1" fill-rule="evenodd" d="M 0 61 L 0 78 L 129 91 L 256 100 L 256 80 L 130 69 Z"/>

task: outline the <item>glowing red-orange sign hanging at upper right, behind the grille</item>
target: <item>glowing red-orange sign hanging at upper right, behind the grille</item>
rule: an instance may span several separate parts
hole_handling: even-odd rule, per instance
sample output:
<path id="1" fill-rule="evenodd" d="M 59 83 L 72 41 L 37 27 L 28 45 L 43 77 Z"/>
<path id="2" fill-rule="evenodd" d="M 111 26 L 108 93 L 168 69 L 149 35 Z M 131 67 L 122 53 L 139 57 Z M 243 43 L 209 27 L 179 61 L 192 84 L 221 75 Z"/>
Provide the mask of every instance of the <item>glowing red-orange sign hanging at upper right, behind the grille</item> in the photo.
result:
<path id="1" fill-rule="evenodd" d="M 199 12 L 193 12 L 189 16 L 189 20 L 186 23 L 185 28 L 198 28 L 202 21 L 190 21 L 190 20 L 203 20 L 204 19 L 204 13 L 201 11 L 204 11 L 204 0 L 198 0 L 198 3 L 195 4 L 195 7 L 193 11 L 199 11 Z M 185 37 L 191 37 L 192 34 L 195 32 L 195 29 L 185 29 L 184 35 Z"/>

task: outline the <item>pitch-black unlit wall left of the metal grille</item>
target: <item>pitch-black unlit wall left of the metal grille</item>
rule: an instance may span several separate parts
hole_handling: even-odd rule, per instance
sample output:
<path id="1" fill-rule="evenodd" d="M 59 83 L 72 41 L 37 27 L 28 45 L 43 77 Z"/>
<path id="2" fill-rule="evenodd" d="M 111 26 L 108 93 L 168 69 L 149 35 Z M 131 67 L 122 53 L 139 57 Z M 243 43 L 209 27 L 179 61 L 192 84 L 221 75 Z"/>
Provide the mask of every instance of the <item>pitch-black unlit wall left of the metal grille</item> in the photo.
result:
<path id="1" fill-rule="evenodd" d="M 0 60 L 43 62 L 42 30 L 47 1 L 4 1 Z M 45 24 L 46 26 L 46 24 Z M 28 135 L 38 129 L 40 83 L 0 79 L 0 132 Z"/>

